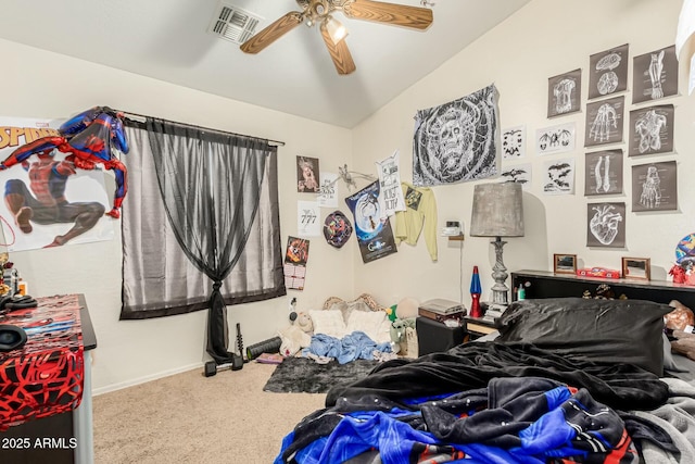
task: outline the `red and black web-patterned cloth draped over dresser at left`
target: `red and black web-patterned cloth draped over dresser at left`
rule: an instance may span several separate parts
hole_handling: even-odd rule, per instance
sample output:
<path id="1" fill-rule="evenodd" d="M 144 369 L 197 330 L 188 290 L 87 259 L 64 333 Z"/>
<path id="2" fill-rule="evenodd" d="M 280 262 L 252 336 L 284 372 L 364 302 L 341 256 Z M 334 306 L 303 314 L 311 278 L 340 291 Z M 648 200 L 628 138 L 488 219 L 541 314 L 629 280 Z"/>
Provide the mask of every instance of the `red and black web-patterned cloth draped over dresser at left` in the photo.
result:
<path id="1" fill-rule="evenodd" d="M 0 431 L 28 419 L 72 411 L 85 381 L 77 294 L 37 298 L 37 308 L 0 315 L 24 328 L 23 348 L 0 353 Z"/>

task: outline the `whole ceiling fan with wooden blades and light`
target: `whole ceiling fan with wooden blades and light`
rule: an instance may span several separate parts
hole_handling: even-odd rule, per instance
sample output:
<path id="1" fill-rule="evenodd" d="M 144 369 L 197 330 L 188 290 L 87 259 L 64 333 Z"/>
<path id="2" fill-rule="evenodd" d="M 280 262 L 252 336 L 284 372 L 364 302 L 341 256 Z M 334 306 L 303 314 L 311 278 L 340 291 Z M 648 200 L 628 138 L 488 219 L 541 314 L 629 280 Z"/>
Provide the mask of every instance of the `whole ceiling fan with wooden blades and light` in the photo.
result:
<path id="1" fill-rule="evenodd" d="M 348 30 L 332 16 L 341 11 L 353 20 L 371 21 L 395 26 L 427 29 L 432 24 L 432 10 L 374 0 L 296 0 L 302 11 L 290 11 L 241 45 L 245 53 L 257 53 L 289 33 L 302 22 L 318 24 L 326 48 L 338 74 L 355 71 L 355 63 L 345 43 Z"/>

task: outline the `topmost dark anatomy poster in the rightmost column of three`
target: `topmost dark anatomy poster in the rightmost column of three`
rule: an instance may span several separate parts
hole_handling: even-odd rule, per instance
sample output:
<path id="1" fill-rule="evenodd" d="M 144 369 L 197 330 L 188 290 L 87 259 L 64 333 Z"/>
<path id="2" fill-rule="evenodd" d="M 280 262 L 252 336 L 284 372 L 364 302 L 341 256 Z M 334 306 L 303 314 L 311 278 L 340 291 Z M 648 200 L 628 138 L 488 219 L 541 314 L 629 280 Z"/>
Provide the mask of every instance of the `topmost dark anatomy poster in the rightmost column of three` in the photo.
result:
<path id="1" fill-rule="evenodd" d="M 632 102 L 653 101 L 678 93 L 675 46 L 634 58 Z"/>

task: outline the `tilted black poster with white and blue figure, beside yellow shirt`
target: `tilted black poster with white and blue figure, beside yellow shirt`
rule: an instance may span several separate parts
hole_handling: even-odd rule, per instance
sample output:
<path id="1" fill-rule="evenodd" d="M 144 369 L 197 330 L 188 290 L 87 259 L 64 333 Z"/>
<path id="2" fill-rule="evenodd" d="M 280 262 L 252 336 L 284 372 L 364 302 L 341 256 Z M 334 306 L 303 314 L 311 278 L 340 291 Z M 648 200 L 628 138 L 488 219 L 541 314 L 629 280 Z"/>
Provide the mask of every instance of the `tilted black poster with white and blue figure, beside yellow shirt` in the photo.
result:
<path id="1" fill-rule="evenodd" d="M 345 203 L 354 217 L 354 230 L 364 263 L 376 261 L 397 251 L 391 223 L 388 217 L 383 217 L 380 211 L 378 181 L 345 198 Z"/>

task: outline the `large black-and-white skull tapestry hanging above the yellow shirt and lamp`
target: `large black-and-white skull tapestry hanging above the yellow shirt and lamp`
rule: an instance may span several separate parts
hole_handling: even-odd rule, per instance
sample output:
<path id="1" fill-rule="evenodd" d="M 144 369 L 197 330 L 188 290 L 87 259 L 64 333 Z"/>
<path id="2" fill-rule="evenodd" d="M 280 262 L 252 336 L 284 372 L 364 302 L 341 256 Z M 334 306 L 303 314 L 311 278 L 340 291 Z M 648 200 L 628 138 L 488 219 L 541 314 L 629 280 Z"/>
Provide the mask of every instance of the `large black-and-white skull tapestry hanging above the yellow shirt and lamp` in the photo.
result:
<path id="1" fill-rule="evenodd" d="M 498 138 L 494 85 L 419 110 L 413 137 L 413 184 L 434 186 L 496 176 Z"/>

